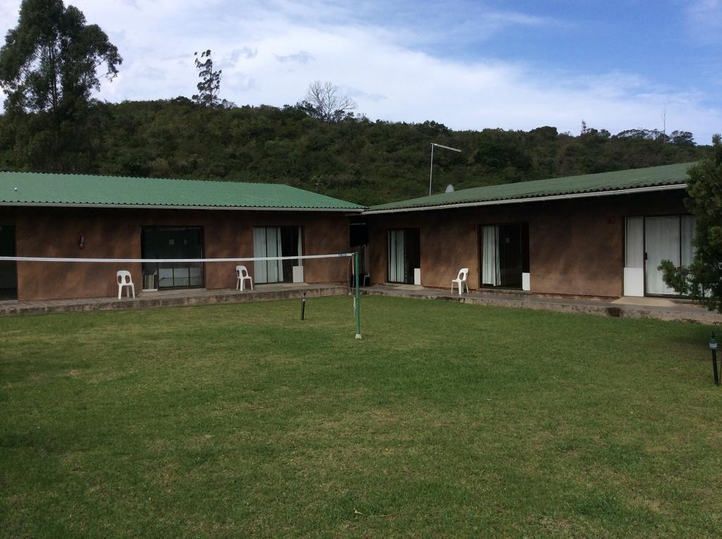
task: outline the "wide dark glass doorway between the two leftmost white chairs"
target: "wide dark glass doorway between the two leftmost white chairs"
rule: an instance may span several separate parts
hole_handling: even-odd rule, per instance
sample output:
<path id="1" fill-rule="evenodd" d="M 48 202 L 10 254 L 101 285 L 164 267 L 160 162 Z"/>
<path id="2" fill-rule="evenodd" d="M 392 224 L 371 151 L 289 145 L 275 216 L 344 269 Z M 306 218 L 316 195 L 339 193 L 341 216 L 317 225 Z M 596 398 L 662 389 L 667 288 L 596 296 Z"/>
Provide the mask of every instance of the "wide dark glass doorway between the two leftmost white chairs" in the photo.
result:
<path id="1" fill-rule="evenodd" d="M 143 227 L 142 258 L 203 258 L 203 227 Z M 199 288 L 203 263 L 143 264 L 143 289 Z"/>

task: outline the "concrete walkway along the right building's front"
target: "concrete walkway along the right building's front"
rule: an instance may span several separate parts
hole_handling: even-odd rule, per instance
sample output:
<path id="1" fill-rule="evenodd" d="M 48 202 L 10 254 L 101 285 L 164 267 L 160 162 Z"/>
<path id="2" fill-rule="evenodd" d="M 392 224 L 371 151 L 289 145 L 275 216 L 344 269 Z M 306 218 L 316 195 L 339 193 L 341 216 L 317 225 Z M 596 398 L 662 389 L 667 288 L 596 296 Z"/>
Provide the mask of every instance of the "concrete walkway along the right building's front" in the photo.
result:
<path id="1" fill-rule="evenodd" d="M 448 289 L 427 289 L 422 286 L 393 284 L 367 286 L 362 289 L 362 293 L 368 296 L 441 299 L 466 304 L 521 307 L 554 312 L 581 312 L 588 315 L 722 324 L 722 315 L 682 299 L 622 297 L 612 300 L 541 296 L 519 291 L 475 291 L 460 295 L 458 292 L 452 294 Z"/>

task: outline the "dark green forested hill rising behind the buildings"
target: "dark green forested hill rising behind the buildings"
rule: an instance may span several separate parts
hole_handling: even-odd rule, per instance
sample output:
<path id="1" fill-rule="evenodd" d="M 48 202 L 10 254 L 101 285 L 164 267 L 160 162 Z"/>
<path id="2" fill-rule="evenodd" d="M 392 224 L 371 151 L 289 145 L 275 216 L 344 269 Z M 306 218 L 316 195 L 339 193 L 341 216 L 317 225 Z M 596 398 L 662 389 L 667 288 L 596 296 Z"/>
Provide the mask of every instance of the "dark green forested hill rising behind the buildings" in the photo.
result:
<path id="1" fill-rule="evenodd" d="M 45 113 L 48 114 L 48 113 Z M 186 98 L 103 103 L 53 125 L 43 115 L 0 116 L 0 169 L 287 183 L 362 204 L 434 192 L 694 161 L 709 146 L 691 133 L 579 136 L 532 131 L 452 131 L 347 118 L 324 123 L 295 107 L 208 108 Z"/>

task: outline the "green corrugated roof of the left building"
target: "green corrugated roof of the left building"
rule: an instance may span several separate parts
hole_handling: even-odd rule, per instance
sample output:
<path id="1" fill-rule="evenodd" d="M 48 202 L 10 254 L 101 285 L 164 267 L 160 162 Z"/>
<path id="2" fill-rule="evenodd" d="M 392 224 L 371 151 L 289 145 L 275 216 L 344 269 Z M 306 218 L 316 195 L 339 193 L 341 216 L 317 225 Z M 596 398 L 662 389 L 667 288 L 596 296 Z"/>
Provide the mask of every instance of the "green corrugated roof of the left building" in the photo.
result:
<path id="1" fill-rule="evenodd" d="M 275 183 L 0 172 L 0 203 L 360 211 L 362 206 Z"/>

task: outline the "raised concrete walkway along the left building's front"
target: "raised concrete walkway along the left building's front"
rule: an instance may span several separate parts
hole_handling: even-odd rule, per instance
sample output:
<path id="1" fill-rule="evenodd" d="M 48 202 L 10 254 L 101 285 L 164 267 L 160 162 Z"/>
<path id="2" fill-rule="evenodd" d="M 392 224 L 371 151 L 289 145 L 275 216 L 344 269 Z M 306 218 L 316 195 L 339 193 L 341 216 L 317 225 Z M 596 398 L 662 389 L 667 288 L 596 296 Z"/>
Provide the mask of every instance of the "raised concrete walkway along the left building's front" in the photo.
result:
<path id="1" fill-rule="evenodd" d="M 162 292 L 141 292 L 135 299 L 91 297 L 83 299 L 51 299 L 46 301 L 0 301 L 2 315 L 44 315 L 56 312 L 101 311 L 150 307 L 185 307 L 219 303 L 262 302 L 302 297 L 325 297 L 346 294 L 342 284 L 258 284 L 253 291 L 235 289 L 182 289 Z"/>

